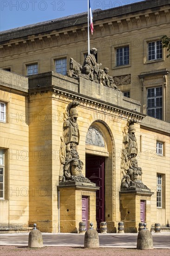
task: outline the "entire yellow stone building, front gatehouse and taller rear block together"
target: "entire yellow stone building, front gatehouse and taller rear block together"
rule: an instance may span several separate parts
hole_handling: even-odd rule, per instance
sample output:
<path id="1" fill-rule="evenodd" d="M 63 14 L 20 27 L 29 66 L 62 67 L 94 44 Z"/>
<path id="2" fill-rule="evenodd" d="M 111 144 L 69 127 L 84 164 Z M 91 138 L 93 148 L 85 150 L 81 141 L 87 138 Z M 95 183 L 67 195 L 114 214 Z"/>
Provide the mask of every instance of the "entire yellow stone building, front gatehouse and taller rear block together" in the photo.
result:
<path id="1" fill-rule="evenodd" d="M 169 225 L 170 78 L 160 51 L 169 33 L 168 3 L 94 12 L 91 46 L 97 63 L 109 68 L 112 87 L 106 78 L 66 76 L 70 58 L 81 66 L 87 54 L 84 13 L 1 32 L 2 228 L 36 222 L 42 231 L 78 232 L 82 219 L 96 227 L 106 221 L 110 232 L 120 221 L 128 232 L 137 232 L 139 222 Z M 148 47 L 159 47 L 159 57 L 150 57 Z M 71 114 L 78 126 L 68 132 Z M 74 139 L 64 140 L 70 133 Z"/>

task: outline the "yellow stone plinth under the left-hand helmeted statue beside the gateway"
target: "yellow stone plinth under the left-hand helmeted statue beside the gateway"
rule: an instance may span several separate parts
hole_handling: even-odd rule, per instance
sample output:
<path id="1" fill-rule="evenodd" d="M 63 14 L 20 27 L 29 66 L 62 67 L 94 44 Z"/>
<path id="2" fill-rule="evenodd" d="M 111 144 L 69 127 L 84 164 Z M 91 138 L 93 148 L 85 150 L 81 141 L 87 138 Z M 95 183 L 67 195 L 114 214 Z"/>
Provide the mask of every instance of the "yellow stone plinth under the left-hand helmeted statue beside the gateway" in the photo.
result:
<path id="1" fill-rule="evenodd" d="M 96 222 L 96 191 L 94 183 L 59 182 L 60 232 L 78 233 L 82 221 L 82 196 L 88 198 L 88 226 Z"/>

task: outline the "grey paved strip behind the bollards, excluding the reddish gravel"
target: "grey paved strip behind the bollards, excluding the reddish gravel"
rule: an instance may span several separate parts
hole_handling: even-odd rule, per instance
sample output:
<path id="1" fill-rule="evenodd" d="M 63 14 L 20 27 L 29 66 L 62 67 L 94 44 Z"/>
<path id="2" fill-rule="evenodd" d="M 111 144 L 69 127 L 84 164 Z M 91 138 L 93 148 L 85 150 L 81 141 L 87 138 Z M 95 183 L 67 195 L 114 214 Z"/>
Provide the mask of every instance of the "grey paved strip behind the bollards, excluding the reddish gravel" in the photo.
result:
<path id="1" fill-rule="evenodd" d="M 28 235 L 26 234 L 1 234 L 0 245 L 28 245 Z M 44 246 L 84 246 L 84 234 L 68 233 L 42 233 Z M 152 233 L 153 246 L 156 249 L 170 249 L 170 232 Z M 114 248 L 136 248 L 137 233 L 124 234 L 99 234 L 101 247 Z"/>

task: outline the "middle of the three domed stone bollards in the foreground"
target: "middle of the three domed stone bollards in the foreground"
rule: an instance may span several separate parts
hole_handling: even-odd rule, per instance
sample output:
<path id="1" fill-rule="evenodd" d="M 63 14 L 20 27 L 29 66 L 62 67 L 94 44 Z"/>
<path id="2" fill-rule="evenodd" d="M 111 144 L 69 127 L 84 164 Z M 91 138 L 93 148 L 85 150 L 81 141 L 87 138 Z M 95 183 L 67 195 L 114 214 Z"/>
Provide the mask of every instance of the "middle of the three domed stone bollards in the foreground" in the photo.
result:
<path id="1" fill-rule="evenodd" d="M 93 223 L 90 223 L 90 229 L 85 232 L 84 248 L 98 248 L 99 238 L 98 232 L 92 228 Z"/>

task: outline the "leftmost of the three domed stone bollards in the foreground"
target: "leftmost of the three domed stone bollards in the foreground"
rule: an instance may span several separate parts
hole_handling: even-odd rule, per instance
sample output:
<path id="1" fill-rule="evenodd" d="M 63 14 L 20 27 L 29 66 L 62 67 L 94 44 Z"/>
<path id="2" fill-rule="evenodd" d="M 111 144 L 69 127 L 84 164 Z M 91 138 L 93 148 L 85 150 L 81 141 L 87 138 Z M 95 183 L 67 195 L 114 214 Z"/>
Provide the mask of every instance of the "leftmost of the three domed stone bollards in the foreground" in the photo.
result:
<path id="1" fill-rule="evenodd" d="M 28 236 L 28 248 L 43 247 L 43 239 L 41 232 L 36 229 L 37 224 L 33 224 L 34 228 Z"/>

